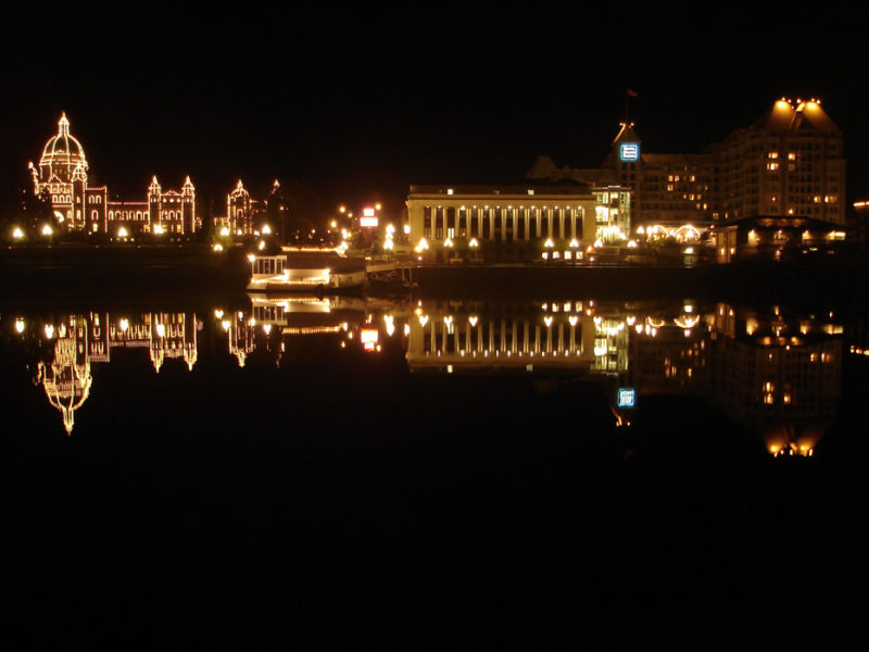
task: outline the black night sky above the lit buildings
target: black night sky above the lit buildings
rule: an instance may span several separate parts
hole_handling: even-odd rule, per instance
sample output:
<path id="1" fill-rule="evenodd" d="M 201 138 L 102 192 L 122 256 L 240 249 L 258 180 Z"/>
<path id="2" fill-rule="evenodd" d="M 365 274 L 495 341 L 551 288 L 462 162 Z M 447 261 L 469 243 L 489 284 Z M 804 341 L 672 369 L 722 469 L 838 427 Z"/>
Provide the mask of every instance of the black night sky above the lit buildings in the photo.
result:
<path id="1" fill-rule="evenodd" d="M 820 97 L 845 134 L 848 200 L 869 195 L 862 16 L 216 8 L 38 8 L 10 22 L 4 184 L 26 178 L 66 111 L 91 183 L 113 193 L 138 198 L 153 174 L 164 187 L 190 174 L 219 205 L 239 177 L 252 189 L 277 177 L 326 206 L 376 197 L 394 208 L 410 184 L 509 183 L 543 153 L 600 165 L 630 87 L 631 120 L 657 152 L 702 151 L 783 95 Z"/>

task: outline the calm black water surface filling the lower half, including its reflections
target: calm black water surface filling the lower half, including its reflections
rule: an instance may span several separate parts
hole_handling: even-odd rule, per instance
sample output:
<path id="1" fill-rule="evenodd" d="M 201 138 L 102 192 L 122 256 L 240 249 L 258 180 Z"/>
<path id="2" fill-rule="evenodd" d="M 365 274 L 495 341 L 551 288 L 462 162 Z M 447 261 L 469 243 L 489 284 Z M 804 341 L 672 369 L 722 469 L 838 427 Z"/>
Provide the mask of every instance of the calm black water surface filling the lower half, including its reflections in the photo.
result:
<path id="1" fill-rule="evenodd" d="M 117 303 L 0 313 L 5 612 L 33 647 L 821 642 L 857 618 L 854 306 Z"/>

